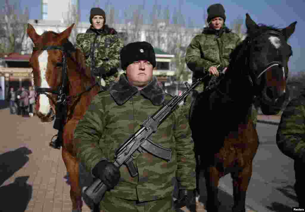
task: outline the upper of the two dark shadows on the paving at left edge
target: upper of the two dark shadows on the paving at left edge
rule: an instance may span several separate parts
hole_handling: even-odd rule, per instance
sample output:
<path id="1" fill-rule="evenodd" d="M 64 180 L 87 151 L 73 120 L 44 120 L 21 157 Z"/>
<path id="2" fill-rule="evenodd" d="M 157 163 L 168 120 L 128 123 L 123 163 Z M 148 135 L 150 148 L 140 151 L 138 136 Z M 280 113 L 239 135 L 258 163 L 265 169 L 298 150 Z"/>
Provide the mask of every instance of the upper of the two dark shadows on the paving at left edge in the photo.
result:
<path id="1" fill-rule="evenodd" d="M 20 147 L 0 154 L 0 185 L 29 161 L 27 155 L 31 153 L 32 151 L 27 147 Z"/>

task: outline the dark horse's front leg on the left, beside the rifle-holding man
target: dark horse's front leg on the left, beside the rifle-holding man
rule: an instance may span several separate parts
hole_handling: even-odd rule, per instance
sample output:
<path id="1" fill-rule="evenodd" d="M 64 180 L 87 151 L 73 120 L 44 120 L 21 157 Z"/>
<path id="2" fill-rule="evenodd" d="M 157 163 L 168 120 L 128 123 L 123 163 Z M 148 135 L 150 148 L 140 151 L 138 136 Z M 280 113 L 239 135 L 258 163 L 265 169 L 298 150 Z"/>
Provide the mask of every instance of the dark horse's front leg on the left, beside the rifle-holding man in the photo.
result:
<path id="1" fill-rule="evenodd" d="M 210 212 L 218 212 L 220 202 L 218 201 L 218 183 L 220 173 L 216 167 L 210 166 L 205 169 L 207 201 L 206 209 Z"/>

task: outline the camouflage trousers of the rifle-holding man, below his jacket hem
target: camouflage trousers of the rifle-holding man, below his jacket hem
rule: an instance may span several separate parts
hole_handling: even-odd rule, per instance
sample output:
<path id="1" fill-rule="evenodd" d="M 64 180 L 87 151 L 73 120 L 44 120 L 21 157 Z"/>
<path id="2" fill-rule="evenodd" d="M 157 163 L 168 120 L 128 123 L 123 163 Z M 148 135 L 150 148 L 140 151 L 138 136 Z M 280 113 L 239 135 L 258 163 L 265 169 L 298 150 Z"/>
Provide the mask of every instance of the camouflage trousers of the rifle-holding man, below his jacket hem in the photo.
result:
<path id="1" fill-rule="evenodd" d="M 149 202 L 138 202 L 137 200 L 127 200 L 117 198 L 108 192 L 104 195 L 100 203 L 101 212 L 175 212 L 172 205 L 172 198 L 168 196 Z"/>

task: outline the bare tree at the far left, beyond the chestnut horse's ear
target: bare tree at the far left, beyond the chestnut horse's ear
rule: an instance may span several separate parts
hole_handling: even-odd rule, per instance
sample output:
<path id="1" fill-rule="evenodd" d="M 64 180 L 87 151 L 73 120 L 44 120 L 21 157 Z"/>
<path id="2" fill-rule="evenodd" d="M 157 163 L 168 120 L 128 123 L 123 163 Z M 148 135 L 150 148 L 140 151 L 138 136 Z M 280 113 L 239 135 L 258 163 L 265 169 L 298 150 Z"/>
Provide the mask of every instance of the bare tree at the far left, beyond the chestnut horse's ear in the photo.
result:
<path id="1" fill-rule="evenodd" d="M 1 53 L 26 53 L 27 21 L 29 20 L 28 8 L 20 7 L 20 2 L 10 4 L 8 0 L 2 7 L 0 14 L 0 52 Z"/>

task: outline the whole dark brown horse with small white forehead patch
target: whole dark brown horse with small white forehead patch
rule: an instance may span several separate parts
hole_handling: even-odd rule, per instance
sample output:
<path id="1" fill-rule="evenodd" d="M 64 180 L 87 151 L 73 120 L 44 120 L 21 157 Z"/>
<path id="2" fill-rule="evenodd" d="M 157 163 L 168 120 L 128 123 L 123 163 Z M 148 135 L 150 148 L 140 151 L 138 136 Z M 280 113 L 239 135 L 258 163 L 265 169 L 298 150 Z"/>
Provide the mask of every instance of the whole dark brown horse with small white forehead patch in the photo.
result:
<path id="1" fill-rule="evenodd" d="M 232 52 L 223 78 L 192 103 L 189 116 L 198 155 L 197 181 L 200 184 L 198 173 L 203 170 L 210 212 L 219 211 L 217 187 L 228 173 L 233 179 L 232 211 L 246 211 L 246 191 L 259 145 L 251 119 L 253 99 L 259 99 L 264 114 L 281 110 L 287 98 L 287 63 L 292 55 L 287 40 L 295 25 L 284 29 L 257 25 L 246 14 L 246 39 Z"/>

